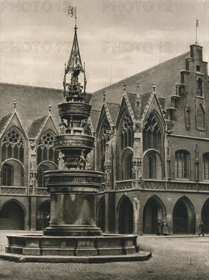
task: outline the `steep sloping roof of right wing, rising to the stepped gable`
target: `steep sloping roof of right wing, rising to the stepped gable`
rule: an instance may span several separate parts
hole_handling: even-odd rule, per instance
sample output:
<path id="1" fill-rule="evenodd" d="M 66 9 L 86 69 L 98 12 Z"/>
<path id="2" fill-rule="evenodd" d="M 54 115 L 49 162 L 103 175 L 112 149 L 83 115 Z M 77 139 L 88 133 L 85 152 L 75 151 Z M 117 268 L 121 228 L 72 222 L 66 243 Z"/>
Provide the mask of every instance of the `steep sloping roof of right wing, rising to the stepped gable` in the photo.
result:
<path id="1" fill-rule="evenodd" d="M 106 102 L 121 104 L 123 98 L 123 82 L 126 82 L 126 91 L 136 94 L 137 83 L 140 83 L 140 94 L 152 91 L 152 82 L 156 81 L 156 92 L 160 98 L 169 98 L 175 93 L 175 84 L 181 80 L 180 71 L 185 69 L 185 59 L 190 57 L 190 51 L 176 58 L 165 61 L 150 69 L 137 73 L 105 88 Z M 103 89 L 96 91 L 90 104 L 93 110 L 101 110 Z"/>

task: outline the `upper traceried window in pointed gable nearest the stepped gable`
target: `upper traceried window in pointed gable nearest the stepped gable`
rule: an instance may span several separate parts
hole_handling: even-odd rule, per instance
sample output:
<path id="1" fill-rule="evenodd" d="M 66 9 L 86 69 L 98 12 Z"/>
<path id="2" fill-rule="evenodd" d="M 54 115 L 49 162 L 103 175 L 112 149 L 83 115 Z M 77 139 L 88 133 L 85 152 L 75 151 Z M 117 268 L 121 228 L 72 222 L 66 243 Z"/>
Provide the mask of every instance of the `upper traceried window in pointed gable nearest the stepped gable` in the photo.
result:
<path id="1" fill-rule="evenodd" d="M 151 113 L 143 127 L 143 151 L 155 149 L 161 153 L 161 130 L 156 116 Z"/>

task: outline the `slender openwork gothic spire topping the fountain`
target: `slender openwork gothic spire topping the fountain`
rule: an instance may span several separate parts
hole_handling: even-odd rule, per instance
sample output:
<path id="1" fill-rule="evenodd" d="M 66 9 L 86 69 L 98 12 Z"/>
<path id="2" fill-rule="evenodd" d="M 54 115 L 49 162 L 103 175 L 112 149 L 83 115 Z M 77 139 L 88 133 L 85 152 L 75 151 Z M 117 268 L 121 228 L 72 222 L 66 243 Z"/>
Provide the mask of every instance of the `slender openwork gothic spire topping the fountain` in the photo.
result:
<path id="1" fill-rule="evenodd" d="M 66 100 L 69 101 L 82 101 L 85 97 L 85 86 L 86 86 L 86 77 L 85 77 L 85 67 L 82 66 L 82 61 L 80 57 L 80 51 L 78 46 L 78 37 L 77 37 L 77 26 L 74 27 L 75 34 L 73 39 L 73 46 L 70 53 L 70 58 L 65 67 L 65 76 L 64 76 L 64 96 Z M 71 82 L 66 82 L 66 75 L 71 74 Z M 84 74 L 84 92 L 82 93 L 83 86 L 78 82 L 78 76 L 80 73 Z M 66 86 L 68 89 L 66 91 Z"/>

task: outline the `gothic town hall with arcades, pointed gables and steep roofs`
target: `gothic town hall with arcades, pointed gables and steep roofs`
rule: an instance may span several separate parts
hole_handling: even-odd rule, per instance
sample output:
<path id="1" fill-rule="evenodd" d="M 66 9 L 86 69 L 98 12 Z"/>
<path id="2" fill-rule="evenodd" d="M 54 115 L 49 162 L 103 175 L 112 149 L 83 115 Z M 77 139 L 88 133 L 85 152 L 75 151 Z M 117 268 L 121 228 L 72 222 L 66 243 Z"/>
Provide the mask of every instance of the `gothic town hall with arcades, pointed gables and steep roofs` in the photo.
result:
<path id="1" fill-rule="evenodd" d="M 95 136 L 86 169 L 104 172 L 96 196 L 105 233 L 209 232 L 209 91 L 202 47 L 86 94 Z M 43 172 L 64 169 L 53 149 L 63 91 L 1 84 L 0 229 L 42 230 L 50 212 Z M 49 105 L 50 104 L 50 105 Z"/>

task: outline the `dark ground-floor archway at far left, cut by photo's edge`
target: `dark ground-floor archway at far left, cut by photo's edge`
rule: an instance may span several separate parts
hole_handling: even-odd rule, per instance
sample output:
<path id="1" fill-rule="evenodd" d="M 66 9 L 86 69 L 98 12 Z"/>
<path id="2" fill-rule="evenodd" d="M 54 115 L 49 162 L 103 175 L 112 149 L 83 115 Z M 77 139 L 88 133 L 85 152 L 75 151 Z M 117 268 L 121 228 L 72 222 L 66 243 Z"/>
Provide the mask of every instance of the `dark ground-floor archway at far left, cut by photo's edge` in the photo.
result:
<path id="1" fill-rule="evenodd" d="M 17 202 L 8 202 L 0 211 L 0 230 L 24 230 L 24 216 L 24 211 Z"/>

